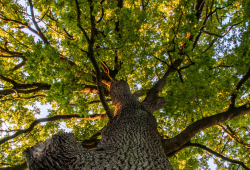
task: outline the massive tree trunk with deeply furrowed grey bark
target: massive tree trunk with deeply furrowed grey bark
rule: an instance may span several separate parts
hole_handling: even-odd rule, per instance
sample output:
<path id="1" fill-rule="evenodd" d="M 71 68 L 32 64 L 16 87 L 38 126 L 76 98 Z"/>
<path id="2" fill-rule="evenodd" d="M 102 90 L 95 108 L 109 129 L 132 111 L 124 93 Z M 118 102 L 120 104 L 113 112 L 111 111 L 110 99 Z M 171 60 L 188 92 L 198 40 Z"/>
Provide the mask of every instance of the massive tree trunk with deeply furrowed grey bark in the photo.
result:
<path id="1" fill-rule="evenodd" d="M 29 169 L 172 169 L 152 113 L 131 95 L 126 82 L 112 83 L 110 90 L 115 117 L 95 151 L 84 149 L 71 133 L 55 135 L 24 152 Z"/>

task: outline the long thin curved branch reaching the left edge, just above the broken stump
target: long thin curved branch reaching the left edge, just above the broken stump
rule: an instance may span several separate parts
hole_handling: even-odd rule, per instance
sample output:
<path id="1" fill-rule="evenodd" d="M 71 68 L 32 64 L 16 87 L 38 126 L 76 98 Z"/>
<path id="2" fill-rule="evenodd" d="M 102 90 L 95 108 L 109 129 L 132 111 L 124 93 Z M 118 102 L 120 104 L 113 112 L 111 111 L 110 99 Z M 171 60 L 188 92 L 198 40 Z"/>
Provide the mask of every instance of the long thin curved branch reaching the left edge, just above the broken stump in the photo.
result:
<path id="1" fill-rule="evenodd" d="M 8 140 L 14 139 L 20 134 L 30 132 L 31 130 L 33 130 L 33 128 L 37 124 L 41 122 L 56 121 L 56 120 L 62 120 L 62 119 L 73 119 L 73 118 L 84 118 L 84 117 L 80 117 L 79 115 L 57 115 L 57 116 L 48 117 L 48 118 L 36 119 L 33 123 L 31 123 L 28 129 L 19 130 L 15 134 L 5 137 L 2 140 L 0 140 L 0 145 L 3 144 L 4 142 L 7 142 Z M 104 119 L 104 118 L 106 118 L 106 115 L 96 114 L 96 115 L 90 115 L 89 117 L 85 119 Z"/>

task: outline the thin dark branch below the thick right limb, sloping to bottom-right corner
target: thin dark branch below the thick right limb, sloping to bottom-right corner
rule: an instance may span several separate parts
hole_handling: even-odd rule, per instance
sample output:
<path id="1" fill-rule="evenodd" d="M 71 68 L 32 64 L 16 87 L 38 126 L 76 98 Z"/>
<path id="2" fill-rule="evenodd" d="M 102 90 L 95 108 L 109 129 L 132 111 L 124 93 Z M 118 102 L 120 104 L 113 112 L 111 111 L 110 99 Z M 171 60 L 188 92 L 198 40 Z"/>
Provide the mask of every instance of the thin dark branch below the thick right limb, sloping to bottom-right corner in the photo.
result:
<path id="1" fill-rule="evenodd" d="M 184 147 L 187 147 L 187 146 L 194 146 L 194 147 L 199 147 L 201 149 L 204 149 L 208 152 L 210 152 L 211 154 L 217 156 L 217 157 L 220 157 L 222 158 L 223 160 L 225 161 L 228 161 L 228 162 L 231 162 L 231 163 L 235 163 L 235 164 L 238 164 L 238 165 L 241 165 L 243 168 L 245 168 L 246 170 L 250 170 L 250 168 L 248 168 L 243 162 L 241 161 L 237 161 L 237 160 L 234 160 L 234 159 L 230 159 L 228 157 L 225 157 L 223 155 L 221 155 L 220 153 L 217 153 L 215 151 L 213 151 L 212 149 L 209 149 L 208 147 L 204 146 L 204 145 L 201 145 L 201 144 L 198 144 L 198 143 L 187 143 L 185 144 Z"/>

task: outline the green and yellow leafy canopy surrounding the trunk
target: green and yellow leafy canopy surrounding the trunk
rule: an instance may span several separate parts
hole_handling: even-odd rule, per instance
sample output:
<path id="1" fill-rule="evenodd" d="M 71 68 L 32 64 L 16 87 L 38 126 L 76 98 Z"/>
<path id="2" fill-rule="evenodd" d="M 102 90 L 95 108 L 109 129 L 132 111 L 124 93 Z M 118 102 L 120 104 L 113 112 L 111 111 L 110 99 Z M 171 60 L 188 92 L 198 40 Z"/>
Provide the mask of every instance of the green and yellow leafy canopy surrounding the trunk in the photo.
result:
<path id="1" fill-rule="evenodd" d="M 160 94 L 167 103 L 154 113 L 164 138 L 227 110 L 233 95 L 236 107 L 249 103 L 250 81 L 239 89 L 236 85 L 250 66 L 250 1 L 1 0 L 0 8 L 2 139 L 29 128 L 41 112 L 39 103 L 51 105 L 47 117 L 105 114 L 87 56 L 90 44 L 99 67 L 119 68 L 116 78 L 126 80 L 132 92 L 143 93 L 139 100 L 173 61 L 182 59 Z M 110 97 L 106 99 L 112 109 Z M 83 141 L 107 121 L 37 124 L 1 145 L 0 166 L 24 162 L 22 151 L 63 131 L 62 122 Z M 249 115 L 241 116 L 205 129 L 191 141 L 249 167 L 249 122 Z M 170 162 L 175 169 L 207 169 L 210 158 L 221 169 L 238 166 L 196 147 L 183 149 Z"/>

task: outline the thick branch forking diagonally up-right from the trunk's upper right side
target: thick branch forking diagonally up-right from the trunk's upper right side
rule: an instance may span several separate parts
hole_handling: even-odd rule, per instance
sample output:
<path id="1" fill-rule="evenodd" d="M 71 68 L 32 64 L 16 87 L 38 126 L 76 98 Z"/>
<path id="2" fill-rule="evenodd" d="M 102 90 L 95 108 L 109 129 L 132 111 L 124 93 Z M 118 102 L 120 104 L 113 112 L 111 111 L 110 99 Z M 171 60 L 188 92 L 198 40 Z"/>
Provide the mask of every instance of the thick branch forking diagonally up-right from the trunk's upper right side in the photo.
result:
<path id="1" fill-rule="evenodd" d="M 175 60 L 171 68 L 169 68 L 164 76 L 148 91 L 146 98 L 142 102 L 143 106 L 147 110 L 154 112 L 155 109 L 157 110 L 159 107 L 162 107 L 163 104 L 165 104 L 164 99 L 159 98 L 158 94 L 166 84 L 167 77 L 170 75 L 170 73 L 177 70 L 177 67 L 181 65 L 181 62 L 181 59 Z"/>

